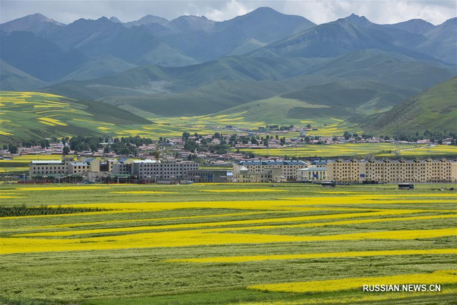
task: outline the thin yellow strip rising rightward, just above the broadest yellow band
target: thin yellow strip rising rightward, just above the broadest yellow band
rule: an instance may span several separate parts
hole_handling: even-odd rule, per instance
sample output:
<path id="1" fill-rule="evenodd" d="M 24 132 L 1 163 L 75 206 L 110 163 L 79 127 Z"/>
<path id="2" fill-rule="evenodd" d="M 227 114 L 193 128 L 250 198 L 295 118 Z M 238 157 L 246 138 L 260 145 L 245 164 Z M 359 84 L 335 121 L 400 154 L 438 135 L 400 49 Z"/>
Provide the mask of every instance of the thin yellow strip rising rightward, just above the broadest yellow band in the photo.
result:
<path id="1" fill-rule="evenodd" d="M 89 230 L 74 230 L 74 231 L 59 231 L 59 232 L 37 232 L 37 233 L 23 233 L 14 236 L 71 236 L 81 234 L 95 234 L 95 233 L 113 233 L 113 232 L 131 232 L 131 231 L 145 231 L 145 230 L 164 230 L 164 229 L 190 229 L 202 227 L 219 227 L 231 225 L 255 225 L 263 223 L 282 223 L 282 222 L 299 222 L 309 220 L 321 219 L 341 219 L 341 218 L 354 218 L 354 217 L 371 217 L 371 216 L 385 216 L 397 214 L 413 214 L 421 210 L 385 210 L 379 212 L 359 212 L 359 213 L 344 213 L 344 214 L 327 214 L 315 216 L 299 216 L 299 217 L 283 217 L 283 218 L 267 218 L 267 219 L 253 219 L 253 220 L 236 220 L 236 221 L 222 221 L 222 222 L 208 222 L 208 223 L 191 223 L 191 224 L 176 224 L 176 225 L 157 225 L 157 226 L 140 226 L 140 227 L 124 227 L 124 228 L 108 228 L 108 229 L 89 229 Z M 419 216 L 418 216 L 419 217 Z M 423 216 L 425 219 L 436 218 L 437 216 Z M 443 215 L 443 218 L 456 217 L 455 215 Z M 380 219 L 384 220 L 384 219 Z M 375 222 L 376 219 L 364 220 L 368 222 Z M 385 221 L 385 220 L 384 220 Z M 314 226 L 314 224 L 294 224 L 289 226 Z M 324 224 L 326 225 L 326 224 Z M 271 226 L 267 229 L 277 226 Z M 250 229 L 261 229 L 261 227 L 248 227 Z M 226 228 L 225 230 L 237 230 L 238 228 Z M 241 228 L 245 229 L 245 228 Z"/>

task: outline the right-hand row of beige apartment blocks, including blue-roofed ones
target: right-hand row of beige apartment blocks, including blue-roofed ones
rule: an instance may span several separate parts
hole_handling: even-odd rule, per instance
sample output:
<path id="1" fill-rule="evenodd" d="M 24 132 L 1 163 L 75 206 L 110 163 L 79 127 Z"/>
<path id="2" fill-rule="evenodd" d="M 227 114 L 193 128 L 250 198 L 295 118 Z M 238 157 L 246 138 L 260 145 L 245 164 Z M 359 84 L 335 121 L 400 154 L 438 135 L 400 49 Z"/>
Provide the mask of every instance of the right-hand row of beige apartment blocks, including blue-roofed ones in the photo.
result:
<path id="1" fill-rule="evenodd" d="M 457 182 L 457 161 L 332 160 L 242 161 L 233 168 L 237 182 L 324 181 L 348 183 Z"/>

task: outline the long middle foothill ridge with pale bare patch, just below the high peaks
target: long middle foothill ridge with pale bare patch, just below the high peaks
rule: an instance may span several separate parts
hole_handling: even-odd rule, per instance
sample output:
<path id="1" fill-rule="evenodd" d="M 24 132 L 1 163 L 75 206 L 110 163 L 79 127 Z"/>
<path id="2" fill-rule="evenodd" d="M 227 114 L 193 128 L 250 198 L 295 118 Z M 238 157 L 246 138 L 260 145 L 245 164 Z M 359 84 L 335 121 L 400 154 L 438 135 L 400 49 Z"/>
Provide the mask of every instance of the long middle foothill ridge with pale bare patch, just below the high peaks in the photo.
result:
<path id="1" fill-rule="evenodd" d="M 112 96 L 181 93 L 216 80 L 251 82 L 286 79 L 324 61 L 322 58 L 231 56 L 185 67 L 146 65 L 93 80 L 59 82 L 44 90 L 92 100 Z"/>

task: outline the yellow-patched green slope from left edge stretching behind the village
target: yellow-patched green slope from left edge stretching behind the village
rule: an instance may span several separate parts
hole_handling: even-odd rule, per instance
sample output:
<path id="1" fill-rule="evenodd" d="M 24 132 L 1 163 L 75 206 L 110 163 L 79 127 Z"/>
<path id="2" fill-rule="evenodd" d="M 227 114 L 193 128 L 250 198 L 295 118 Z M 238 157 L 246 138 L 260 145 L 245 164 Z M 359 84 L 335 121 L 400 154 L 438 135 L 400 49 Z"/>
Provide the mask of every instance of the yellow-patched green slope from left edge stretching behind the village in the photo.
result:
<path id="1" fill-rule="evenodd" d="M 264 111 L 269 111 L 271 105 L 265 105 Z M 185 131 L 191 134 L 213 134 L 218 131 L 213 129 L 214 127 L 257 129 L 267 125 L 266 121 L 271 125 L 318 126 L 319 130 L 310 132 L 310 135 L 342 135 L 345 131 L 363 132 L 357 124 L 349 124 L 340 118 L 308 120 L 306 115 L 302 115 L 293 119 L 278 116 L 264 117 L 262 120 L 258 115 L 259 111 L 227 110 L 224 113 L 176 117 L 143 112 L 140 113 L 140 117 L 116 106 L 94 101 L 39 92 L 0 92 L 0 137 L 2 142 L 8 142 L 7 137 L 25 139 L 87 134 L 118 137 L 138 135 L 158 139 L 179 137 Z M 232 131 L 224 130 L 224 133 L 230 134 Z M 298 133 L 290 134 L 297 135 Z"/>

